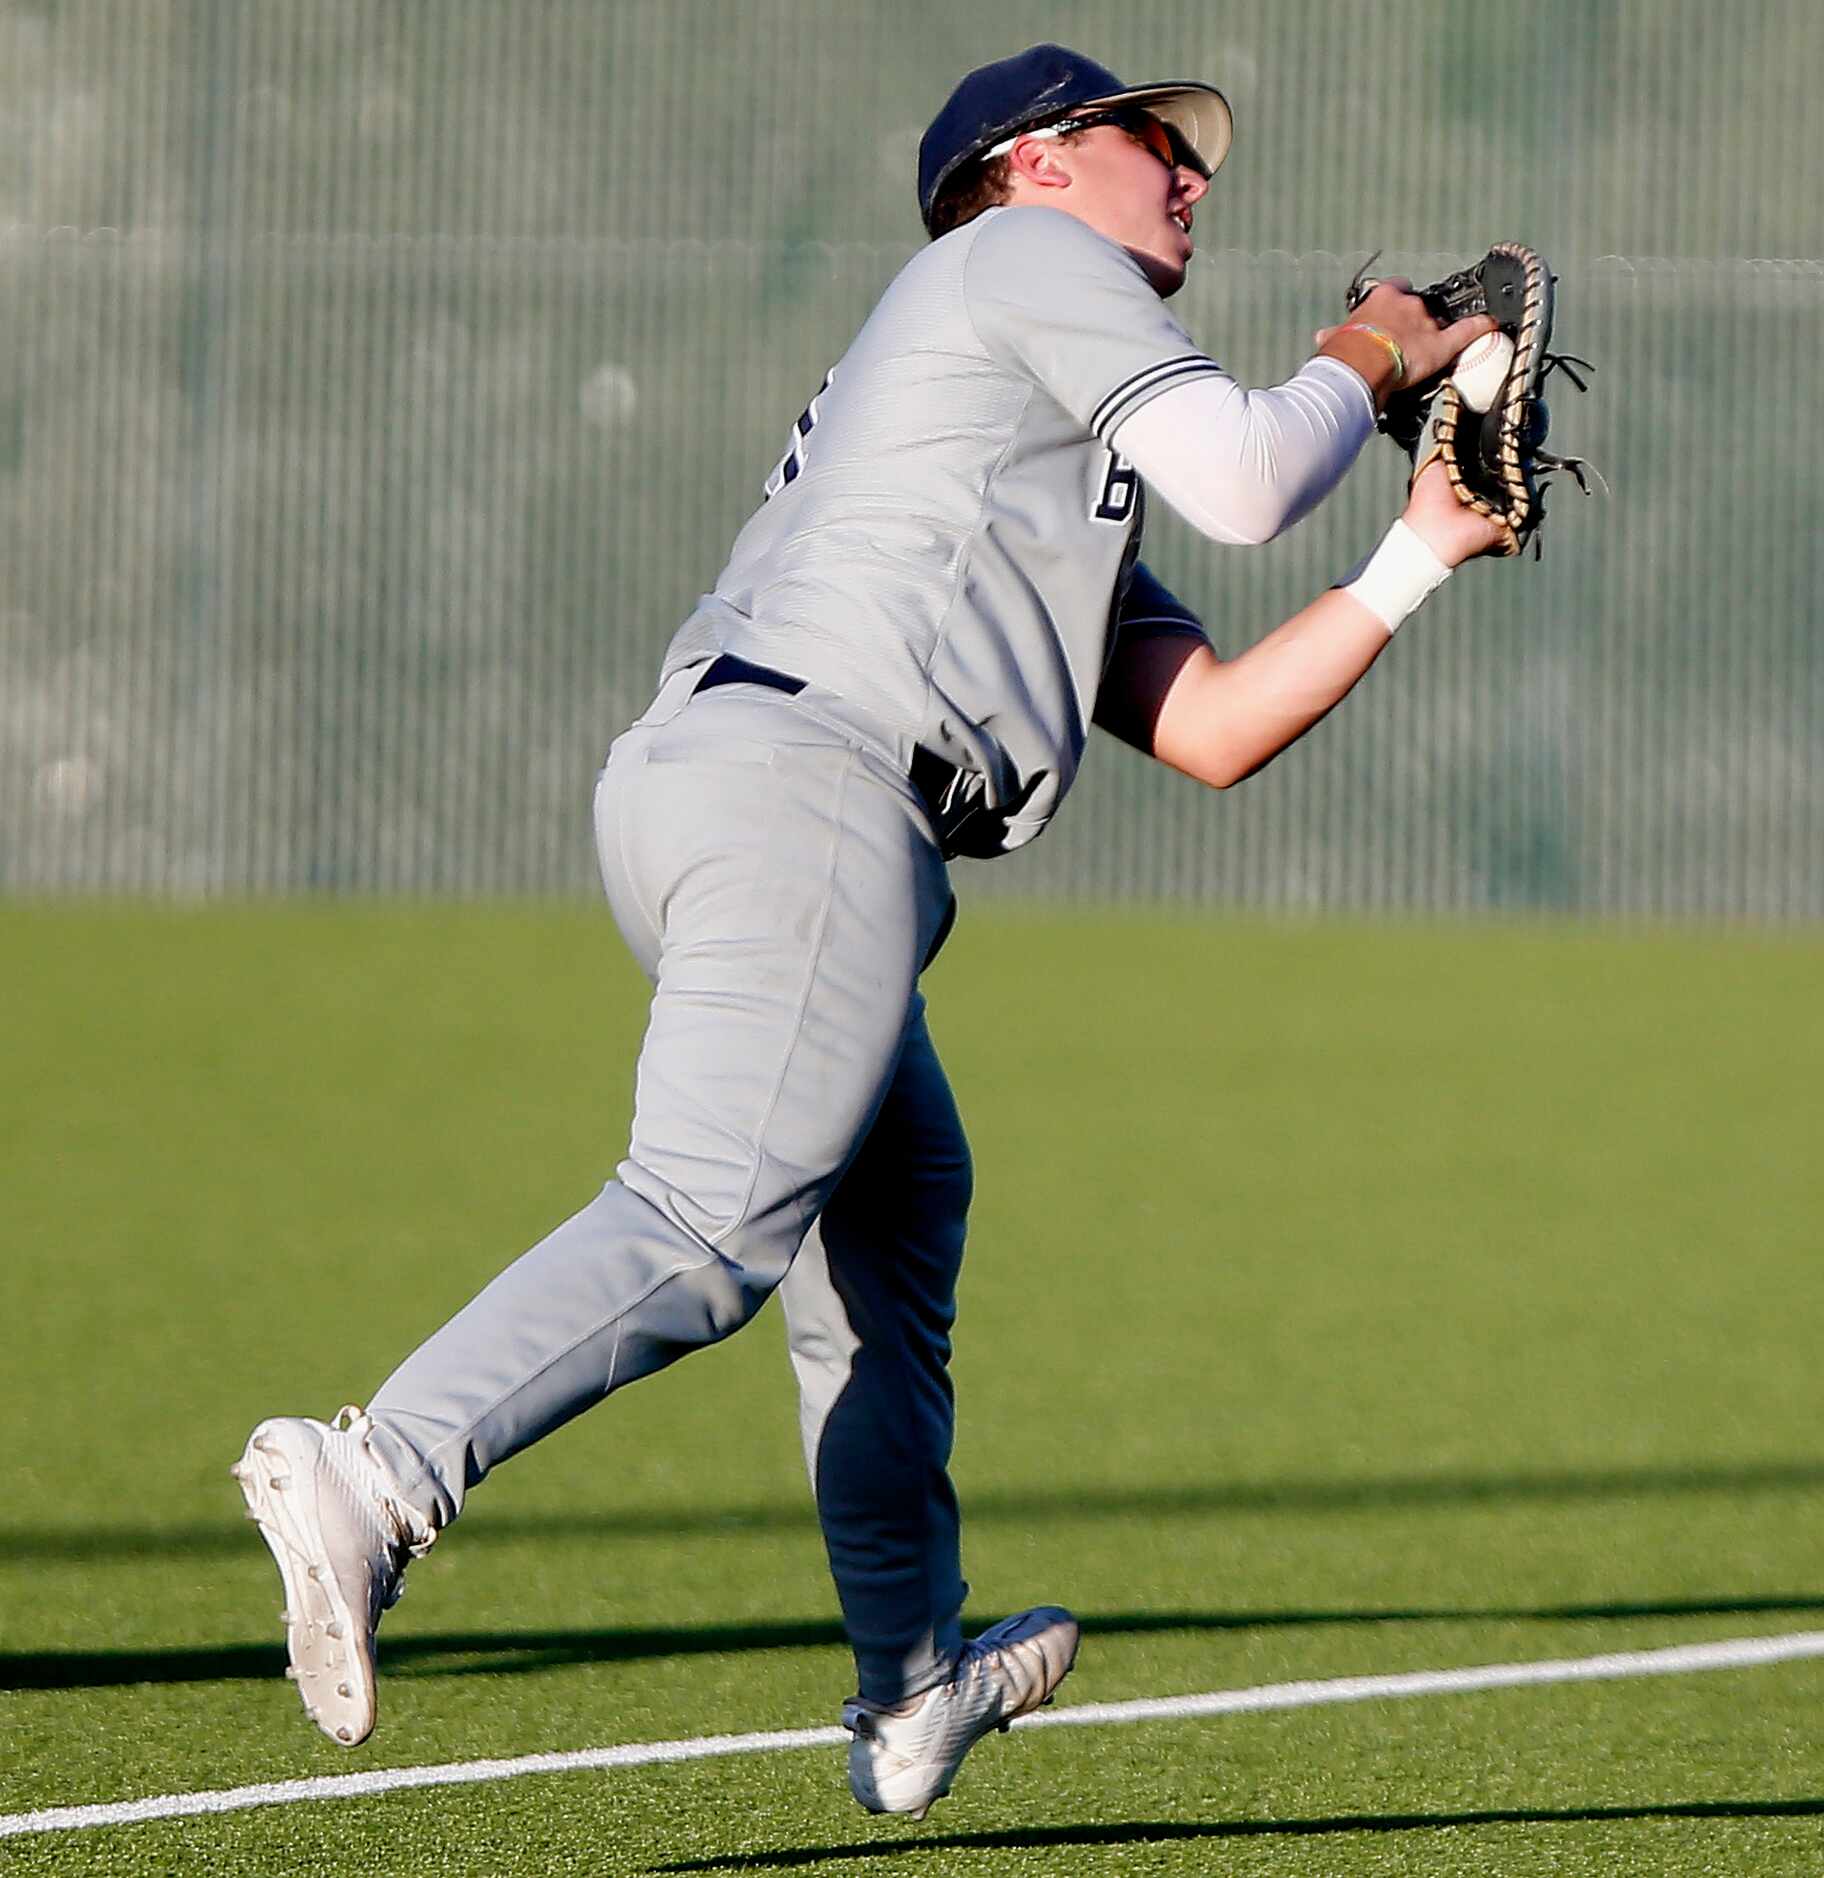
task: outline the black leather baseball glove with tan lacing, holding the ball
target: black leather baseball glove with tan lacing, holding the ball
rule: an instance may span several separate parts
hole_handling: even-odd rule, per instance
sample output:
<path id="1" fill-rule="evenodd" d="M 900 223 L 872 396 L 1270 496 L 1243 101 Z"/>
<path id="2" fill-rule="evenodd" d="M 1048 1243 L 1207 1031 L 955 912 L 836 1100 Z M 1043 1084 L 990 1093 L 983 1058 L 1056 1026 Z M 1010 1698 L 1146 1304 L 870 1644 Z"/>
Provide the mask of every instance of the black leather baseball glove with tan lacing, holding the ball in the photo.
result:
<path id="1" fill-rule="evenodd" d="M 1369 267 L 1373 255 L 1349 285 L 1351 308 L 1375 285 Z M 1414 473 L 1441 456 L 1458 501 L 1501 526 L 1499 554 L 1518 554 L 1529 541 L 1538 552 L 1544 486 L 1555 471 L 1563 470 L 1589 494 L 1587 464 L 1544 447 L 1550 413 L 1540 385 L 1552 372 L 1563 372 L 1578 391 L 1589 391 L 1582 372 L 1595 370 L 1587 359 L 1548 349 L 1553 284 L 1555 276 L 1531 248 L 1495 242 L 1475 267 L 1420 287 L 1441 327 L 1488 314 L 1508 342 L 1501 349 L 1507 368 L 1499 383 L 1478 387 L 1480 396 L 1471 398 L 1458 381 L 1460 361 L 1448 374 L 1398 391 L 1381 415 L 1381 428 L 1414 460 Z M 1428 421 L 1431 447 L 1420 460 Z"/>

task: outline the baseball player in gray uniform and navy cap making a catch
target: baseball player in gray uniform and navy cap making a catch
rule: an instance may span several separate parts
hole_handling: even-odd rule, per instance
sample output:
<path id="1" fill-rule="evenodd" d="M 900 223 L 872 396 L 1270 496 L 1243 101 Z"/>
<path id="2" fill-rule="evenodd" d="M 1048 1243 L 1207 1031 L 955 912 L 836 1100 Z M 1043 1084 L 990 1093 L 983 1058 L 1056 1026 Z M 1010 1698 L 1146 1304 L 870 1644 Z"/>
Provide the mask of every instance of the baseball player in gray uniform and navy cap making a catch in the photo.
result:
<path id="1" fill-rule="evenodd" d="M 1251 774 L 1493 535 L 1428 473 L 1349 580 L 1230 661 L 1138 562 L 1144 488 L 1212 541 L 1266 541 L 1390 391 L 1490 327 L 1439 331 L 1383 284 L 1244 391 L 1167 308 L 1229 137 L 1215 88 L 1125 86 L 1056 45 L 969 73 L 926 131 L 932 242 L 791 426 L 595 789 L 654 984 L 616 1178 L 366 1412 L 263 1422 L 235 1469 L 331 1739 L 372 1730 L 376 1624 L 470 1487 L 774 1290 L 855 1651 L 855 1797 L 922 1818 L 1069 1671 L 1056 1606 L 960 1628 L 969 1151 L 919 992 L 945 862 L 1033 839 L 1091 723 L 1217 787 Z"/>

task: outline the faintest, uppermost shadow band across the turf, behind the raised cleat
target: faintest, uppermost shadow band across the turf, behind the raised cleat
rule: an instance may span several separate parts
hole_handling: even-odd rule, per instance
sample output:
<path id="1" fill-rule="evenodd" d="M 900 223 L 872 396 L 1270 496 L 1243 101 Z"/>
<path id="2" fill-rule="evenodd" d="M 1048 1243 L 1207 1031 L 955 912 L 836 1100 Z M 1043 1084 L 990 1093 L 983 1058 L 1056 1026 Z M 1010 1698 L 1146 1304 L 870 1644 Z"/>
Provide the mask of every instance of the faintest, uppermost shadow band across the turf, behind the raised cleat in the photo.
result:
<path id="1" fill-rule="evenodd" d="M 966 1495 L 971 1527 L 1059 1519 L 1183 1519 L 1200 1514 L 1347 1514 L 1401 1508 L 1533 1506 L 1578 1501 L 1683 1499 L 1741 1493 L 1809 1493 L 1824 1487 L 1824 1461 L 1749 1467 L 1617 1467 L 1550 1474 L 1411 1474 L 1384 1480 L 1208 1482 L 1183 1487 L 1065 1487 L 1054 1493 L 984 1489 Z M 229 1495 L 224 1495 L 227 1501 Z M 464 1546 L 522 1540 L 736 1538 L 744 1532 L 813 1532 L 810 1501 L 644 1512 L 487 1512 L 462 1523 Z M 240 1519 L 182 1527 L 11 1527 L 0 1531 L 0 1564 L 116 1564 L 133 1559 L 205 1559 L 246 1551 Z"/>

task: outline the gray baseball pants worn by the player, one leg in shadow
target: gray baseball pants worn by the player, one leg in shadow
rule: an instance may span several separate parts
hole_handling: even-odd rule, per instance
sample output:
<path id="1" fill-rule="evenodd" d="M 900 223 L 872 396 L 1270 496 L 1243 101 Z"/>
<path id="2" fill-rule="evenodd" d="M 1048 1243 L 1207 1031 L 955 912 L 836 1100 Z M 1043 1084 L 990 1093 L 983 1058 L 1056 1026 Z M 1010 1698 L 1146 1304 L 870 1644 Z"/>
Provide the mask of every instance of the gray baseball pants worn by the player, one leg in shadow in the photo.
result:
<path id="1" fill-rule="evenodd" d="M 368 1405 L 434 1525 L 488 1469 L 780 1290 L 860 1694 L 960 1647 L 947 1375 L 969 1151 L 917 980 L 951 905 L 904 774 L 813 704 L 689 674 L 609 753 L 595 839 L 654 984 L 616 1179 Z"/>

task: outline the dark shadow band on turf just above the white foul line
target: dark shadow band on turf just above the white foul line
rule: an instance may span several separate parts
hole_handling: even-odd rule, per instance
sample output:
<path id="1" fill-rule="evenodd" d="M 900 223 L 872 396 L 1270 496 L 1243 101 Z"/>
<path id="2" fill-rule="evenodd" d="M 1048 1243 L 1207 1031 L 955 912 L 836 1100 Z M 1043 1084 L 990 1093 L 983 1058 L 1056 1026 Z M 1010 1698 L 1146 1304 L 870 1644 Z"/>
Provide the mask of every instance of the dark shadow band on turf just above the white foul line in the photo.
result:
<path id="1" fill-rule="evenodd" d="M 1183 1630 L 1289 1630 L 1319 1624 L 1600 1623 L 1636 1617 L 1754 1617 L 1824 1611 L 1820 1596 L 1642 1600 L 1516 1608 L 1413 1608 L 1354 1611 L 1108 1611 L 1086 1615 L 1086 1636 L 1148 1636 Z M 693 1624 L 641 1630 L 462 1630 L 381 1636 L 387 1677 L 530 1675 L 594 1662 L 654 1656 L 721 1656 L 774 1649 L 834 1649 L 842 1624 L 804 1619 L 776 1624 Z M 131 1683 L 237 1683 L 284 1675 L 280 1643 L 201 1649 L 8 1651 L 0 1690 L 120 1688 Z"/>

